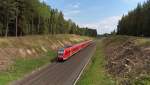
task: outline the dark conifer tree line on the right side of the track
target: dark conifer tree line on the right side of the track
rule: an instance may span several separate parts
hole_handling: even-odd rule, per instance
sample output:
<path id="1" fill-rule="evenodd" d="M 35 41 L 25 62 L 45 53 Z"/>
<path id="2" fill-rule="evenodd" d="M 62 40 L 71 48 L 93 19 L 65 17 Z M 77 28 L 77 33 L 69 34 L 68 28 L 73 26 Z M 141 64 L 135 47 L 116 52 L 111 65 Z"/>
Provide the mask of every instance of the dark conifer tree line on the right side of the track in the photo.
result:
<path id="1" fill-rule="evenodd" d="M 150 36 L 150 0 L 124 15 L 118 23 L 117 34 L 130 36 Z"/>

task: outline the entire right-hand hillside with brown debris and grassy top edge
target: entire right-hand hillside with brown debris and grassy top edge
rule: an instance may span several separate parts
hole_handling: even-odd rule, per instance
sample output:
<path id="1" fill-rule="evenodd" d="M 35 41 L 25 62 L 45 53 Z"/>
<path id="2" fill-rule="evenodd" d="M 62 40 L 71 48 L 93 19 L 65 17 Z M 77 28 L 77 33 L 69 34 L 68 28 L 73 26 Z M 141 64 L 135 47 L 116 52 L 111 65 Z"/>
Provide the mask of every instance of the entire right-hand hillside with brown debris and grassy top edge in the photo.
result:
<path id="1" fill-rule="evenodd" d="M 119 85 L 150 84 L 150 40 L 113 36 L 104 41 L 107 71 Z"/>

